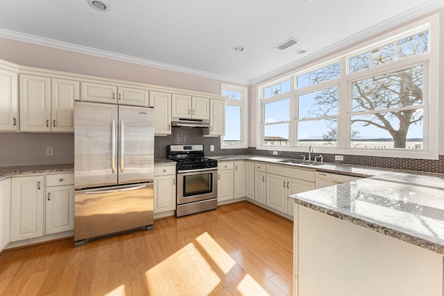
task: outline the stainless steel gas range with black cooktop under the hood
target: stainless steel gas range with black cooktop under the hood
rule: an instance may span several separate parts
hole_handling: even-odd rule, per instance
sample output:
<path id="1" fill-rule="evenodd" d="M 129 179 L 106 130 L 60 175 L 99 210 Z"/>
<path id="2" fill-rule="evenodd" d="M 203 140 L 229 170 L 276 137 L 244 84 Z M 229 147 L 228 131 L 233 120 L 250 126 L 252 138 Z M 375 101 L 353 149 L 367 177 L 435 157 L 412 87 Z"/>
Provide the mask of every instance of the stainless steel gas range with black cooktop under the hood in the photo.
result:
<path id="1" fill-rule="evenodd" d="M 217 208 L 217 161 L 203 145 L 170 145 L 168 158 L 177 162 L 176 217 Z"/>

